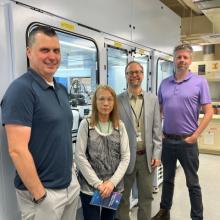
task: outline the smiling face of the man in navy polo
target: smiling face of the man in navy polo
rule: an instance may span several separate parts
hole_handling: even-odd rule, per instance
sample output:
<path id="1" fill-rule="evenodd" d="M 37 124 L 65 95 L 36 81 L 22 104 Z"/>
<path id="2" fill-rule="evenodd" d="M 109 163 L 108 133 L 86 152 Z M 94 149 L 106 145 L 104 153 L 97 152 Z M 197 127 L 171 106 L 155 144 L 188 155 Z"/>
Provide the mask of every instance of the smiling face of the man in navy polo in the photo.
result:
<path id="1" fill-rule="evenodd" d="M 31 68 L 47 81 L 52 81 L 61 59 L 59 39 L 37 33 L 33 45 L 27 48 L 27 56 Z"/>

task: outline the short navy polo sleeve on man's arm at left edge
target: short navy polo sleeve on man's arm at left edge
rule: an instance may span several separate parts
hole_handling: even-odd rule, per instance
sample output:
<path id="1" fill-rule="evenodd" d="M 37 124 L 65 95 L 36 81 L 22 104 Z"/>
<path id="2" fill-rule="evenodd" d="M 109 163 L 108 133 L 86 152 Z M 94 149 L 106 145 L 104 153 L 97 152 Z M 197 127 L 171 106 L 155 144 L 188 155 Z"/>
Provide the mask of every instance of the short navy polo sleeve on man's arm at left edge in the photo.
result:
<path id="1" fill-rule="evenodd" d="M 32 126 L 35 97 L 31 89 L 15 81 L 6 91 L 2 102 L 2 124 Z"/>

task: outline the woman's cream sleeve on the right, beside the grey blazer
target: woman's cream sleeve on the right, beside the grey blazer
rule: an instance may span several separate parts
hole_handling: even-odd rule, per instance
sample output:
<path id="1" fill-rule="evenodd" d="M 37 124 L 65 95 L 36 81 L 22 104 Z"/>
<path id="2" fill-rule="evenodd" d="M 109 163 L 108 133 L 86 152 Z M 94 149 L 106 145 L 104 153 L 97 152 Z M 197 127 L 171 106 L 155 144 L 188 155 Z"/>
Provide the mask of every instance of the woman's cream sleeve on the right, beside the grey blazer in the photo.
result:
<path id="1" fill-rule="evenodd" d="M 118 183 L 125 175 L 125 172 L 130 162 L 130 148 L 129 148 L 128 135 L 122 121 L 120 121 L 119 132 L 120 132 L 120 146 L 121 146 L 121 161 L 115 173 L 110 178 L 110 181 L 113 183 L 115 187 L 118 185 Z"/>

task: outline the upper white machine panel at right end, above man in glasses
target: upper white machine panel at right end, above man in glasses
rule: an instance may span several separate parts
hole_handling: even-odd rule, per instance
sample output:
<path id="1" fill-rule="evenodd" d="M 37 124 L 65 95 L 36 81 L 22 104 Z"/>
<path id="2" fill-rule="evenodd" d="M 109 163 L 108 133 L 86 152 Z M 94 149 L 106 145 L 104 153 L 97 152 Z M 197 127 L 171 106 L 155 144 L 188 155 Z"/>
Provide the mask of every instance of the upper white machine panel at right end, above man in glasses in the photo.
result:
<path id="1" fill-rule="evenodd" d="M 135 0 L 132 41 L 172 54 L 180 40 L 181 18 L 160 1 Z"/>

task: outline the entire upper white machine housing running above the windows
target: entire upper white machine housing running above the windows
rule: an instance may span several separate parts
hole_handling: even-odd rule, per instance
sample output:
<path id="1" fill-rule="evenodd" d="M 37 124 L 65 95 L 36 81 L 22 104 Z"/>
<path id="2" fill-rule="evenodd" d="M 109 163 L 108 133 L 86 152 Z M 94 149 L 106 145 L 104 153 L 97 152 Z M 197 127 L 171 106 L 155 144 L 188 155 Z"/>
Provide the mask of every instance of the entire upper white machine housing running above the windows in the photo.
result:
<path id="1" fill-rule="evenodd" d="M 168 53 L 180 40 L 181 18 L 159 0 L 19 2 Z"/>

